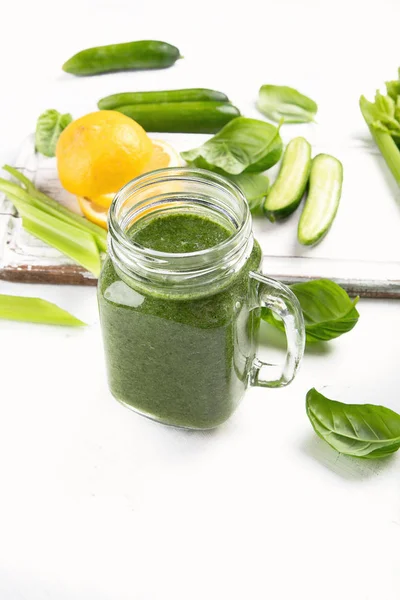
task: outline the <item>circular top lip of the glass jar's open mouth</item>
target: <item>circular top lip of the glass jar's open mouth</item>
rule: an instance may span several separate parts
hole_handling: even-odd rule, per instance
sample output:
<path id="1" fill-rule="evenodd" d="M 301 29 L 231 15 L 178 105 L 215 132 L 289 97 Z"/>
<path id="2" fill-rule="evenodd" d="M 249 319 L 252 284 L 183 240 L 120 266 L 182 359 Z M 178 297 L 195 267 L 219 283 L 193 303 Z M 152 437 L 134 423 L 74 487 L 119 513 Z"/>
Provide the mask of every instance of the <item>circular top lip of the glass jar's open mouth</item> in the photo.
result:
<path id="1" fill-rule="evenodd" d="M 177 181 L 197 181 L 198 183 L 209 183 L 217 185 L 220 188 L 224 188 L 228 190 L 233 196 L 236 197 L 239 202 L 241 202 L 244 206 L 244 214 L 241 223 L 237 227 L 237 229 L 230 235 L 228 238 L 219 242 L 215 246 L 211 246 L 210 248 L 205 248 L 203 250 L 196 250 L 195 252 L 162 252 L 160 250 L 153 250 L 152 248 L 146 248 L 134 240 L 132 240 L 126 232 L 121 227 L 118 220 L 118 212 L 123 205 L 124 202 L 127 201 L 129 196 L 133 193 L 139 192 L 141 189 L 146 186 L 154 185 L 154 184 L 162 184 L 166 183 L 168 180 L 176 179 Z M 250 210 L 247 204 L 247 200 L 242 192 L 242 190 L 237 186 L 234 182 L 225 178 L 223 175 L 219 173 L 214 173 L 212 171 L 207 171 L 205 169 L 198 169 L 192 167 L 166 167 L 163 169 L 156 169 L 154 171 L 150 171 L 149 173 L 144 173 L 135 177 L 128 183 L 126 183 L 114 196 L 114 199 L 111 203 L 110 210 L 108 213 L 108 230 L 112 232 L 119 243 L 122 243 L 125 247 L 129 246 L 130 248 L 135 248 L 143 255 L 146 255 L 148 258 L 154 259 L 195 259 L 202 258 L 204 256 L 209 255 L 212 251 L 223 251 L 228 249 L 233 243 L 236 243 L 238 238 L 243 234 L 243 230 L 246 229 L 250 221 Z"/>

